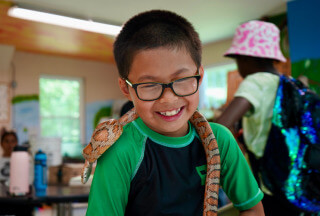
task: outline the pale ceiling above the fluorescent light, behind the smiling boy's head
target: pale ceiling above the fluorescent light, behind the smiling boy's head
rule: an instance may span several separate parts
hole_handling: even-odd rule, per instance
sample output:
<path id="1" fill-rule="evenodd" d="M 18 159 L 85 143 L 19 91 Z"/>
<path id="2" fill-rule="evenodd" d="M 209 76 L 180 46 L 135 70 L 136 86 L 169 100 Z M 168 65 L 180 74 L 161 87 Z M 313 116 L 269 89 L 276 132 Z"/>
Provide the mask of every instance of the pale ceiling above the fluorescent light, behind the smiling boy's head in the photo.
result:
<path id="1" fill-rule="evenodd" d="M 233 36 L 242 22 L 286 11 L 288 0 L 12 0 L 30 9 L 122 25 L 133 15 L 166 9 L 186 17 L 203 44 Z"/>

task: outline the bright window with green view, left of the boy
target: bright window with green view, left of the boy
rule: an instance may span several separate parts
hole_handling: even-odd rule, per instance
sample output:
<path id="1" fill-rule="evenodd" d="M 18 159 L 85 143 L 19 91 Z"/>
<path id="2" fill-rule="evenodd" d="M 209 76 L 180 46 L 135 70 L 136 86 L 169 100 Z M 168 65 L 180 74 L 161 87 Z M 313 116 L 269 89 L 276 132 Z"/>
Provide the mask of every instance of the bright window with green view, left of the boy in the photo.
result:
<path id="1" fill-rule="evenodd" d="M 40 122 L 43 137 L 60 137 L 63 156 L 81 155 L 84 143 L 82 80 L 41 76 Z"/>

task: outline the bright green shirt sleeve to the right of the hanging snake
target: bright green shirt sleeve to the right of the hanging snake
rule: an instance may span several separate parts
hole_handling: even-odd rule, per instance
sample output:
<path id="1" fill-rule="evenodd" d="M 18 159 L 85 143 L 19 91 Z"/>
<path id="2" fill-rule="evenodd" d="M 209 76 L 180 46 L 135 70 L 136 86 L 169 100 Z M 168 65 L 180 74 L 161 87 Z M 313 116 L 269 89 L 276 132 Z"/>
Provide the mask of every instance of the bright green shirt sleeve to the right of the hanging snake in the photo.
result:
<path id="1" fill-rule="evenodd" d="M 251 169 L 232 133 L 224 126 L 211 124 L 216 136 L 221 163 L 220 185 L 235 208 L 249 209 L 263 198 Z"/>

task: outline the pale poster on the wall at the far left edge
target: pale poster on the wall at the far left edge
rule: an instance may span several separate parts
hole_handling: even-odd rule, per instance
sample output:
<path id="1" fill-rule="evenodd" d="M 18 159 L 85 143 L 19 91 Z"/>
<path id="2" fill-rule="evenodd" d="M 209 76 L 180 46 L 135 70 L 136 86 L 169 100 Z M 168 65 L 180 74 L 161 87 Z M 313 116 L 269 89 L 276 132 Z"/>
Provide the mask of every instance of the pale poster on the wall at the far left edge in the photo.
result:
<path id="1" fill-rule="evenodd" d="M 8 123 L 10 116 L 9 85 L 0 83 L 0 123 Z"/>

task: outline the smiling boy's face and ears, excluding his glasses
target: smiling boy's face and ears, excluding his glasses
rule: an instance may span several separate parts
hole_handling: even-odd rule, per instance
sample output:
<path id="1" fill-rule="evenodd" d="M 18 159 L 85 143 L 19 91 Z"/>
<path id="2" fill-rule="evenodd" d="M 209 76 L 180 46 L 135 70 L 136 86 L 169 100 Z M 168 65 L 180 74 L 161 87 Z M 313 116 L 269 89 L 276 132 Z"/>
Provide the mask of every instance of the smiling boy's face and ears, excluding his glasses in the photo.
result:
<path id="1" fill-rule="evenodd" d="M 197 75 L 197 66 L 185 49 L 156 48 L 138 52 L 132 62 L 128 80 L 133 83 L 170 83 L 177 79 Z M 201 79 L 203 68 L 199 68 Z M 184 136 L 188 132 L 188 120 L 199 103 L 199 91 L 179 97 L 170 88 L 155 101 L 140 100 L 135 90 L 119 78 L 124 95 L 133 102 L 143 122 L 153 131 L 165 136 Z M 191 86 L 190 86 L 191 87 Z"/>

